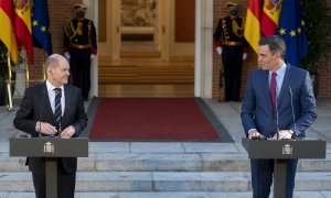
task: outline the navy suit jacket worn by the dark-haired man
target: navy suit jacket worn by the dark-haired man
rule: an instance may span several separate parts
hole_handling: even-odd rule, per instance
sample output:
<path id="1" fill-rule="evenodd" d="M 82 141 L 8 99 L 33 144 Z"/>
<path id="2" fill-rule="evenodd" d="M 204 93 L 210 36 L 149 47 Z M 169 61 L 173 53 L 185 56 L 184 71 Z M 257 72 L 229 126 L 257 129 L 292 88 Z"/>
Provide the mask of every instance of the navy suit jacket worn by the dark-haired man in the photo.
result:
<path id="1" fill-rule="evenodd" d="M 298 138 L 305 138 L 306 129 L 317 118 L 312 82 L 307 70 L 287 65 L 277 98 L 277 109 L 279 130 L 292 130 Z M 276 134 L 277 113 L 273 112 L 269 97 L 268 70 L 256 69 L 252 72 L 245 90 L 241 116 L 246 135 L 248 135 L 250 129 L 256 129 L 266 138 L 271 138 Z"/>

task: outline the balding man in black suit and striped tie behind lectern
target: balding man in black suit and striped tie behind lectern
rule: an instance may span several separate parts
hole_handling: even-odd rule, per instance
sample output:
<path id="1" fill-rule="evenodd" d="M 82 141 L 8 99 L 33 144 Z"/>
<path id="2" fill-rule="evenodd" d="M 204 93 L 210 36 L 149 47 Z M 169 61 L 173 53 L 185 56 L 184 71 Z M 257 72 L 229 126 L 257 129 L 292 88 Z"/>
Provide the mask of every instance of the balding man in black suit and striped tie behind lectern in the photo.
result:
<path id="1" fill-rule="evenodd" d="M 45 63 L 45 70 L 46 81 L 25 90 L 13 124 L 17 129 L 30 133 L 32 138 L 39 136 L 40 133 L 43 136 L 76 138 L 86 127 L 87 117 L 81 90 L 67 85 L 68 62 L 65 57 L 53 54 Z M 56 98 L 58 98 L 57 102 Z M 57 119 L 56 112 L 58 112 L 60 119 Z M 44 198 L 45 158 L 28 157 L 26 165 L 32 172 L 36 197 Z M 76 157 L 57 158 L 58 197 L 74 197 L 76 169 Z"/>

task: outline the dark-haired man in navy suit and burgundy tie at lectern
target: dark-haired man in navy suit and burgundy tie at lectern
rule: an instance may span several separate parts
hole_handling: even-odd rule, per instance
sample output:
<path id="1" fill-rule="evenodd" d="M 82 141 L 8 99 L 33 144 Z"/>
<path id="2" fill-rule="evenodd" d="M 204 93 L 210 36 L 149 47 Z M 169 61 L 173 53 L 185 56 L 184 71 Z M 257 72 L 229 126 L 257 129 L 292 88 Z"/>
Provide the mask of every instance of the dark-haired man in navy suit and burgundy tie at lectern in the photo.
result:
<path id="1" fill-rule="evenodd" d="M 248 78 L 241 113 L 248 139 L 305 138 L 305 130 L 317 118 L 309 73 L 286 64 L 285 53 L 286 45 L 279 36 L 266 36 L 258 43 L 260 68 Z M 287 198 L 293 195 L 297 163 L 298 160 L 287 161 Z M 250 167 L 253 197 L 269 197 L 274 160 L 250 160 Z"/>

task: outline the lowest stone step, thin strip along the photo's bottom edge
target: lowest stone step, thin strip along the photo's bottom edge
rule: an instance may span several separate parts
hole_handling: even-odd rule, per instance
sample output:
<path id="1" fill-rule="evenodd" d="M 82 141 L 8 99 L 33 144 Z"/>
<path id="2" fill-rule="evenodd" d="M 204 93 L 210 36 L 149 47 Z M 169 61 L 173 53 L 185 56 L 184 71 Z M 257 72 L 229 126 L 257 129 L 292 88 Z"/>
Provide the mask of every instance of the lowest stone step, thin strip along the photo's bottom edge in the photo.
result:
<path id="1" fill-rule="evenodd" d="M 34 193 L 1 193 L 0 198 L 35 198 Z M 167 193 L 76 193 L 75 198 L 246 198 L 252 193 L 167 191 Z M 331 191 L 295 191 L 295 198 L 328 198 Z"/>

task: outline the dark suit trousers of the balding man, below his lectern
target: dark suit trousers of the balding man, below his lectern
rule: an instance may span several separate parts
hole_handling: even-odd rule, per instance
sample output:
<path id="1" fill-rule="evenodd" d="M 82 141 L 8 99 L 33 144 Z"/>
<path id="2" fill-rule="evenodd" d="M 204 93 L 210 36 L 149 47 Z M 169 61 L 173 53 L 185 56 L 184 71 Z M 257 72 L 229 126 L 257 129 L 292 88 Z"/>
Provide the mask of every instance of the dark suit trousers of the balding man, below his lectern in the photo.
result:
<path id="1" fill-rule="evenodd" d="M 36 198 L 46 197 L 46 175 L 45 173 L 32 173 L 33 186 Z M 76 186 L 76 173 L 66 174 L 57 164 L 57 197 L 74 198 Z"/>

